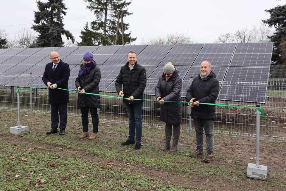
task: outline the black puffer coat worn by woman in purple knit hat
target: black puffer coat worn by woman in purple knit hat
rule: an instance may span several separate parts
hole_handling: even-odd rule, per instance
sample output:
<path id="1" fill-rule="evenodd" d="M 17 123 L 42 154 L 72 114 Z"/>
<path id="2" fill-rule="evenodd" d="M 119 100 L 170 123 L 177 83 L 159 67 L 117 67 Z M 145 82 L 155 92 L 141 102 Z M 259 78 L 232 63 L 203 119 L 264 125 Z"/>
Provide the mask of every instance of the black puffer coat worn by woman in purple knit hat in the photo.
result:
<path id="1" fill-rule="evenodd" d="M 101 78 L 101 73 L 99 67 L 96 66 L 90 70 L 89 74 L 84 75 L 83 77 L 77 76 L 75 80 L 75 86 L 78 88 L 81 87 L 81 90 L 84 89 L 86 93 L 95 93 L 99 94 L 99 82 Z M 80 66 L 79 73 L 83 70 L 83 64 Z M 79 93 L 77 97 L 77 107 L 90 107 L 90 108 L 100 108 L 100 96 L 83 94 Z"/>

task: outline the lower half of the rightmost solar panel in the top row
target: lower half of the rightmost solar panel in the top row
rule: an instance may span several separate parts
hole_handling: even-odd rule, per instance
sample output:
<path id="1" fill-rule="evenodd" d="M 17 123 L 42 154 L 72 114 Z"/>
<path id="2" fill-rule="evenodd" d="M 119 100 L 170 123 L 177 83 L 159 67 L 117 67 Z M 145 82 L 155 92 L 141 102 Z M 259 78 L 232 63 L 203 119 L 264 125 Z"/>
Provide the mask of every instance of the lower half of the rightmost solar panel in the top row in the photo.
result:
<path id="1" fill-rule="evenodd" d="M 270 54 L 234 54 L 230 66 L 270 67 Z"/>

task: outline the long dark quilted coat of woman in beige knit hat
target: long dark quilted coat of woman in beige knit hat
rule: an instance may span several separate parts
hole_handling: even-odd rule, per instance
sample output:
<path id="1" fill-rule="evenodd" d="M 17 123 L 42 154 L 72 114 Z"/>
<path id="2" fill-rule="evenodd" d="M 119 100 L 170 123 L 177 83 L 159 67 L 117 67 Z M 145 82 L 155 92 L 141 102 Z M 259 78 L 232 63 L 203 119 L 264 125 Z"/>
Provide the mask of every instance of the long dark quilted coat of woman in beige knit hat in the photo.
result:
<path id="1" fill-rule="evenodd" d="M 166 81 L 166 77 L 162 75 L 155 87 L 156 99 L 161 96 L 164 101 L 181 102 L 182 78 L 179 76 L 178 70 L 175 68 L 173 75 Z M 165 102 L 161 105 L 160 110 L 161 121 L 178 125 L 182 122 L 182 103 Z"/>

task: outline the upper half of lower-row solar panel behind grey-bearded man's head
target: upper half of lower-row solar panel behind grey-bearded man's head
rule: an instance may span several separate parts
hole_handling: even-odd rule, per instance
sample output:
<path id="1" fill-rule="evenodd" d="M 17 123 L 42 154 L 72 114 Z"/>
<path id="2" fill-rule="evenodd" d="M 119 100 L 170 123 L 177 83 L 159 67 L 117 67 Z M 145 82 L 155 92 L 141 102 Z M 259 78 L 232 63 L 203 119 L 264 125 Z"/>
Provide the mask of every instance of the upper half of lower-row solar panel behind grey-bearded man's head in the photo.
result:
<path id="1" fill-rule="evenodd" d="M 218 81 L 223 81 L 223 78 L 226 74 L 227 67 L 221 67 L 221 66 L 215 66 L 212 67 L 212 71 L 215 73 L 217 76 Z M 189 80 L 191 76 L 193 79 L 197 77 L 200 73 L 200 66 L 192 66 L 189 72 L 186 74 L 185 79 Z"/>

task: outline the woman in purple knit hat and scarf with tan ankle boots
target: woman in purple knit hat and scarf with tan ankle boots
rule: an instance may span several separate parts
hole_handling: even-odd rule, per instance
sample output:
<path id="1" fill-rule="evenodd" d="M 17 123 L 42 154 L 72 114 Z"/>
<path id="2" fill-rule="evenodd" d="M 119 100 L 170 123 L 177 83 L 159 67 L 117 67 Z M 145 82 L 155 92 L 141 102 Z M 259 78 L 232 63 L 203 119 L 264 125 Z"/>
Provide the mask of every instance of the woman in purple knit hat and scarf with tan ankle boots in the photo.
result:
<path id="1" fill-rule="evenodd" d="M 83 64 L 81 64 L 80 71 L 77 79 L 75 80 L 75 86 L 77 87 L 77 91 L 79 91 L 77 97 L 77 107 L 81 110 L 81 121 L 83 124 L 83 134 L 80 136 L 80 138 L 86 138 L 89 135 L 88 110 L 90 110 L 92 119 L 92 134 L 88 139 L 93 140 L 97 137 L 99 123 L 97 108 L 100 108 L 98 85 L 100 78 L 100 69 L 96 66 L 92 53 L 84 53 Z M 84 92 L 94 93 L 97 95 L 85 94 Z"/>

